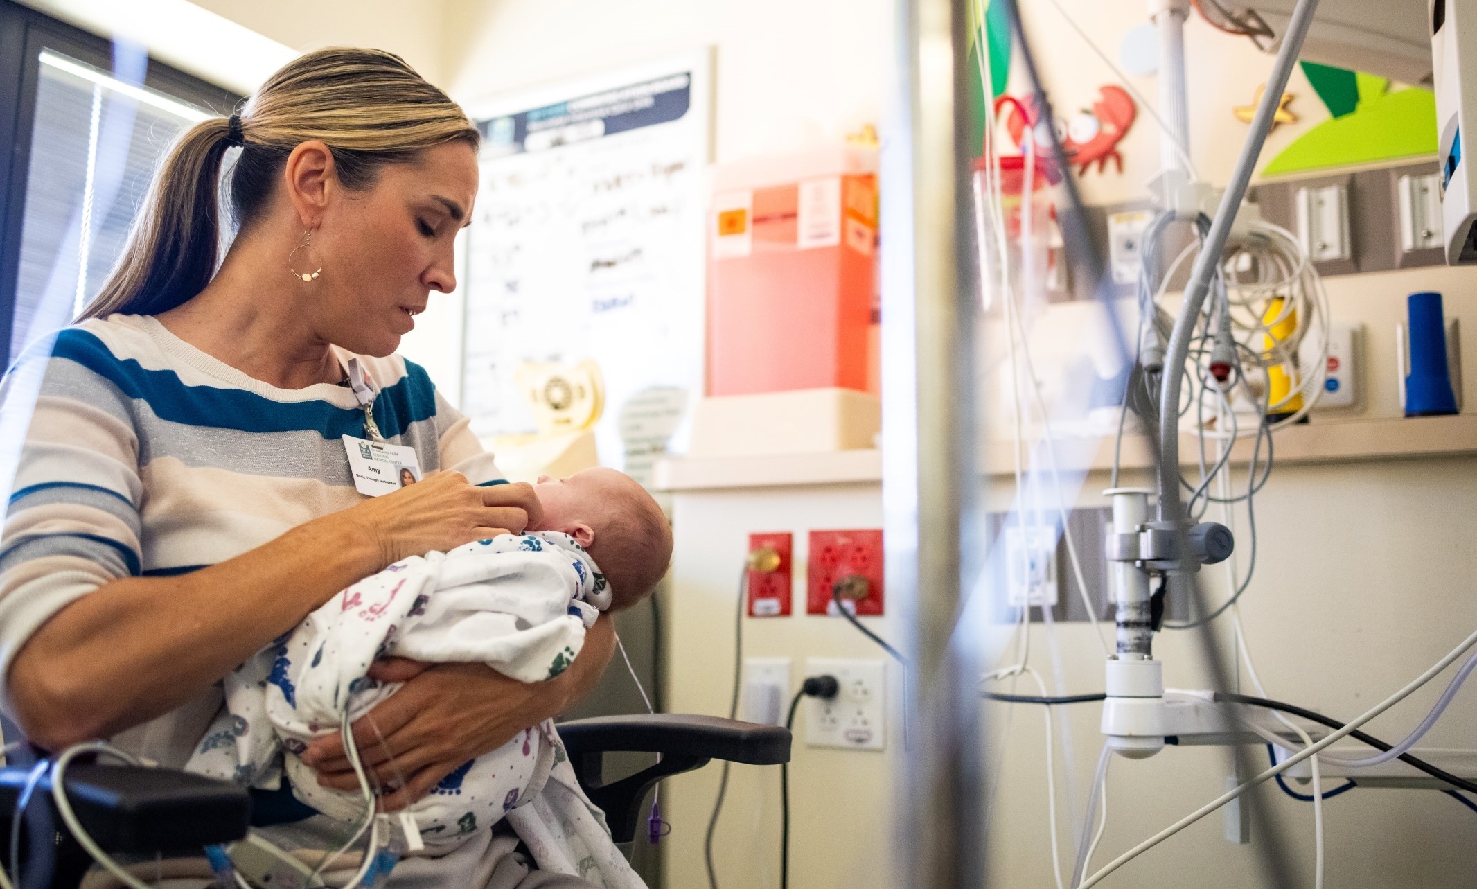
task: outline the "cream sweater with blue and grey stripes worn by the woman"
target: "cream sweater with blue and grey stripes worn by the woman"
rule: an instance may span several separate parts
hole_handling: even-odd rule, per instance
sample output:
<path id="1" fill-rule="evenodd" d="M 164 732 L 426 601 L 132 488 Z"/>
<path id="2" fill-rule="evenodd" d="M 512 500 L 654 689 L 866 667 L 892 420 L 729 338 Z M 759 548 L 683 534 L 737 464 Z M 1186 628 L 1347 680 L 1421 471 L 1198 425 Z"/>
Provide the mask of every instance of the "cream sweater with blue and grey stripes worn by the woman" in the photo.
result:
<path id="1" fill-rule="evenodd" d="M 397 356 L 359 360 L 380 390 L 381 434 L 414 447 L 422 471 L 501 480 L 425 371 Z M 151 316 L 61 331 L 49 354 L 22 356 L 0 399 L 0 446 L 10 444 L 0 459 L 15 467 L 0 532 L 0 676 L 41 623 L 109 580 L 188 573 L 363 499 L 341 442 L 366 437 L 352 390 L 267 385 Z M 202 696 L 115 740 L 182 765 L 220 703 Z M 9 694 L 0 704 L 12 712 Z"/>

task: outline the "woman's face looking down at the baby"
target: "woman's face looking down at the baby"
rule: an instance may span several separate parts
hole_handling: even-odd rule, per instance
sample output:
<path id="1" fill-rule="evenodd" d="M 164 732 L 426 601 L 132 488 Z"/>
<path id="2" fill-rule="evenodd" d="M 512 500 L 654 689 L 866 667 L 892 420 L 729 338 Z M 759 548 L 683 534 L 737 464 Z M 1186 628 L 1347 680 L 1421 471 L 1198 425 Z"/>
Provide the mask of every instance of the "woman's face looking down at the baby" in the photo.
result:
<path id="1" fill-rule="evenodd" d="M 456 289 L 452 245 L 476 196 L 477 155 L 459 140 L 417 162 L 385 164 L 369 190 L 337 189 L 315 250 L 294 257 L 295 266 L 304 254 L 323 261 L 323 273 L 303 285 L 319 337 L 359 354 L 394 351 L 431 291 Z"/>

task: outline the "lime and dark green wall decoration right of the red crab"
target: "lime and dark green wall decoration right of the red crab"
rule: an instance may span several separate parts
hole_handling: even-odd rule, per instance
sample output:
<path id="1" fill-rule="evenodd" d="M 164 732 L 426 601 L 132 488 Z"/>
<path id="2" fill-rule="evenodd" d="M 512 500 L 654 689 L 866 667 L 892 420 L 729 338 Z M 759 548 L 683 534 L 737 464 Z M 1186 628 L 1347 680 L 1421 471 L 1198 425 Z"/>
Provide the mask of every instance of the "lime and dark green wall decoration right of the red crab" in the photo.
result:
<path id="1" fill-rule="evenodd" d="M 1263 176 L 1436 154 L 1436 95 L 1430 90 L 1391 92 L 1382 77 L 1313 62 L 1303 62 L 1303 72 L 1332 120 L 1298 136 Z"/>

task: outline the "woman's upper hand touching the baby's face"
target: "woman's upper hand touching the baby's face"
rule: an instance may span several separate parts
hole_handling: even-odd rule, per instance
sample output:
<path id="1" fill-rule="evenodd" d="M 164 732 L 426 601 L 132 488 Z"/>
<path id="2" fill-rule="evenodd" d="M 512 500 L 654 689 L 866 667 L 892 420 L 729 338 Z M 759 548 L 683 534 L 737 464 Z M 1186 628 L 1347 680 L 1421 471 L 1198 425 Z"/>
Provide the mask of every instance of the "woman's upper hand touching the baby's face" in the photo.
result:
<path id="1" fill-rule="evenodd" d="M 374 540 L 381 567 L 408 555 L 455 549 L 505 532 L 521 532 L 544 517 L 530 484 L 479 487 L 461 473 L 433 473 L 338 514 Z"/>

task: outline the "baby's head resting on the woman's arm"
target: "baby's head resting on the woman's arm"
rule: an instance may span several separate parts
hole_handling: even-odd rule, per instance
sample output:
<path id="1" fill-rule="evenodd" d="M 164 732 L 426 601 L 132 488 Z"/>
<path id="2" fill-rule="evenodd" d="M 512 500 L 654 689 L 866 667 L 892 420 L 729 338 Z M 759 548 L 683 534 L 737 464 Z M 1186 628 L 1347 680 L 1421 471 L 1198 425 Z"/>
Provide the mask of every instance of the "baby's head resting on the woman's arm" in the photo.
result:
<path id="1" fill-rule="evenodd" d="M 625 473 L 594 468 L 569 478 L 541 476 L 533 490 L 544 507 L 541 532 L 564 532 L 610 582 L 610 610 L 640 603 L 672 561 L 672 527 L 651 495 Z"/>

